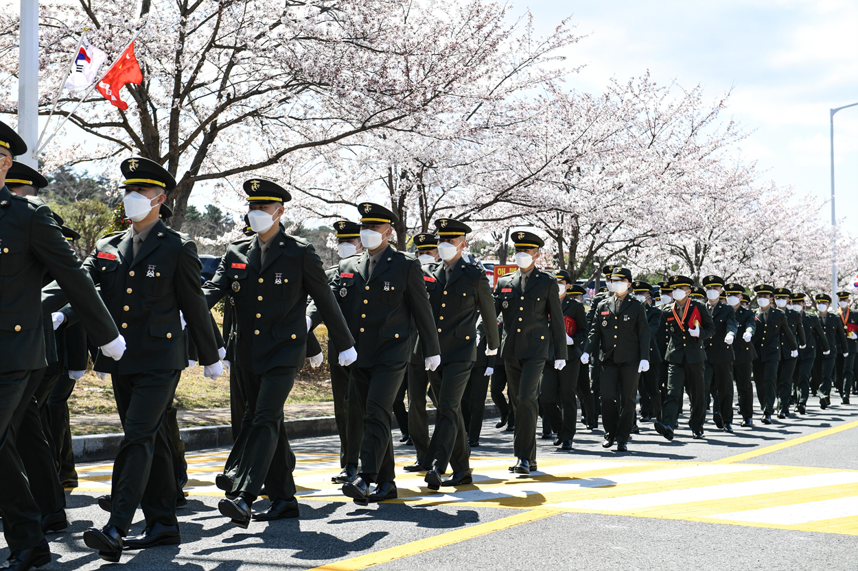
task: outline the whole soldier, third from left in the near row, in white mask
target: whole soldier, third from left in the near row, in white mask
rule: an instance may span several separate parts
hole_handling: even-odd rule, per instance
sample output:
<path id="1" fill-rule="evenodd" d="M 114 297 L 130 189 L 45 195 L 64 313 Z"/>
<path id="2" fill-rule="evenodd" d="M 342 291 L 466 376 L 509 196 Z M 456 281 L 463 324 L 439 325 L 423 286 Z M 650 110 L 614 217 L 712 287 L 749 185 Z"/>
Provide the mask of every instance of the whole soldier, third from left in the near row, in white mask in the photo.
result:
<path id="1" fill-rule="evenodd" d="M 355 352 L 316 250 L 282 230 L 283 204 L 291 195 L 262 178 L 245 181 L 244 189 L 256 236 L 229 245 L 203 292 L 209 307 L 229 295 L 235 308 L 235 361 L 231 366 L 238 370 L 245 394 L 245 418 L 227 460 L 236 466 L 234 476 L 221 475 L 218 483 L 221 489 L 229 488 L 218 509 L 235 526 L 246 529 L 263 483 L 271 505 L 263 513 L 252 514 L 254 520 L 299 515 L 283 403 L 304 365 L 312 325 L 305 316 L 308 294 L 329 324 L 331 342 L 340 350 L 340 364 L 349 364 Z"/>

